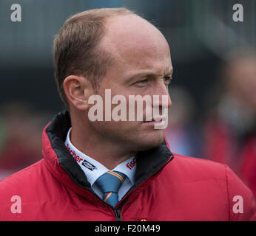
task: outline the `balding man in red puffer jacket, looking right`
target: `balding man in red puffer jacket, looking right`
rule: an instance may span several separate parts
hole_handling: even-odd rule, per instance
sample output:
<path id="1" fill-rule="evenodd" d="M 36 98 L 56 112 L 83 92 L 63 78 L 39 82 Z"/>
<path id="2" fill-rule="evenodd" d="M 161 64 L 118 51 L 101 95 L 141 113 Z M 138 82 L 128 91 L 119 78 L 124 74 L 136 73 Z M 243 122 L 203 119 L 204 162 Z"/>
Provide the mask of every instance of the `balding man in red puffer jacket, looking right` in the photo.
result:
<path id="1" fill-rule="evenodd" d="M 162 121 L 146 119 L 148 105 L 135 112 L 142 121 L 116 122 L 104 112 L 117 104 L 107 89 L 112 99 L 160 95 L 152 106 L 162 114 L 171 106 L 169 46 L 152 24 L 124 8 L 85 11 L 65 22 L 53 54 L 68 111 L 44 128 L 44 159 L 1 181 L 1 220 L 255 219 L 252 192 L 232 170 L 171 153 L 155 129 Z M 101 121 L 90 117 L 94 95 L 105 104 Z"/>

